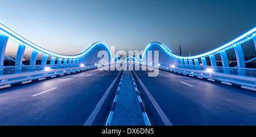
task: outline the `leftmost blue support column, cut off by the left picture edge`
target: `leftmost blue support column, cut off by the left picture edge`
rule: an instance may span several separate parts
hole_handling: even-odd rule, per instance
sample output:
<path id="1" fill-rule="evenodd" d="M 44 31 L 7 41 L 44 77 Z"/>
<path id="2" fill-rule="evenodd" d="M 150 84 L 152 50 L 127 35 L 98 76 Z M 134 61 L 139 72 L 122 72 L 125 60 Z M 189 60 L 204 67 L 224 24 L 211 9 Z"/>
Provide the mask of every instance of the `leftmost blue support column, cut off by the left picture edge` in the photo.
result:
<path id="1" fill-rule="evenodd" d="M 5 59 L 5 49 L 8 41 L 8 37 L 5 34 L 0 35 L 0 66 L 3 66 Z"/>

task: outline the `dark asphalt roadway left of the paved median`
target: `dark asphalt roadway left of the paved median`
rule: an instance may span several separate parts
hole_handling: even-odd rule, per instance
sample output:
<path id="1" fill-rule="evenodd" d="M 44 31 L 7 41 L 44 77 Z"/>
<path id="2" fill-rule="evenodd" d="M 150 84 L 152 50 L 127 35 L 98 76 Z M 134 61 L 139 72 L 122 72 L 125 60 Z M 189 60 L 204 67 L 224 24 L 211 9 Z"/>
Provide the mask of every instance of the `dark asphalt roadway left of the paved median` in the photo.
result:
<path id="1" fill-rule="evenodd" d="M 93 69 L 0 90 L 0 125 L 83 125 L 117 74 Z"/>

